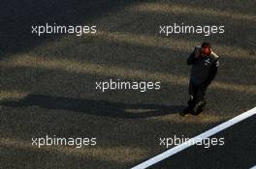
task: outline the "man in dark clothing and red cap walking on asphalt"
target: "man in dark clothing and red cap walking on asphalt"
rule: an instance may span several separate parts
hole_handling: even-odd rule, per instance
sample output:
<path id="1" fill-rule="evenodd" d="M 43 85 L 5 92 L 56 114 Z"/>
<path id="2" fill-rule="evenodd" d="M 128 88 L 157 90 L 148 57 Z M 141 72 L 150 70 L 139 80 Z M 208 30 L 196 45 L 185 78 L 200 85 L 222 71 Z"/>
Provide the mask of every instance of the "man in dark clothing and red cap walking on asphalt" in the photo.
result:
<path id="1" fill-rule="evenodd" d="M 201 47 L 195 47 L 188 57 L 187 65 L 192 66 L 188 87 L 189 100 L 188 107 L 180 115 L 199 115 L 207 104 L 205 94 L 217 73 L 219 57 L 213 53 L 208 42 L 203 42 Z"/>

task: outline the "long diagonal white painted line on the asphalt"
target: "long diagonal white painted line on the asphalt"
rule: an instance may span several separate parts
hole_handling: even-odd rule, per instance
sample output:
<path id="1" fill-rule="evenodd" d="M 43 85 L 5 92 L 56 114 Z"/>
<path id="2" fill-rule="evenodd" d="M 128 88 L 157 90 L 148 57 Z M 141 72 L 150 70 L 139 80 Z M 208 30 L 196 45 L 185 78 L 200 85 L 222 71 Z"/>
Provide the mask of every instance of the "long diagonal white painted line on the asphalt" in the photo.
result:
<path id="1" fill-rule="evenodd" d="M 190 146 L 193 146 L 197 141 L 207 139 L 211 135 L 214 135 L 215 133 L 217 133 L 221 130 L 224 130 L 228 127 L 232 127 L 233 125 L 240 123 L 241 121 L 243 121 L 255 114 L 256 114 L 256 107 L 240 114 L 239 116 L 237 116 L 227 122 L 224 122 L 224 123 L 218 125 L 217 127 L 208 129 L 206 132 L 203 132 L 202 134 L 195 136 L 195 137 L 187 140 L 186 142 L 184 142 L 184 143 L 182 143 L 182 144 L 180 144 L 180 145 L 178 145 L 160 155 L 153 156 L 152 158 L 147 159 L 143 163 L 136 165 L 132 169 L 144 169 L 144 168 L 150 167 L 153 164 L 156 164 L 157 162 L 162 161 L 162 160 L 166 159 L 167 157 L 170 157 L 171 155 L 175 155 L 176 153 L 181 152 Z"/>

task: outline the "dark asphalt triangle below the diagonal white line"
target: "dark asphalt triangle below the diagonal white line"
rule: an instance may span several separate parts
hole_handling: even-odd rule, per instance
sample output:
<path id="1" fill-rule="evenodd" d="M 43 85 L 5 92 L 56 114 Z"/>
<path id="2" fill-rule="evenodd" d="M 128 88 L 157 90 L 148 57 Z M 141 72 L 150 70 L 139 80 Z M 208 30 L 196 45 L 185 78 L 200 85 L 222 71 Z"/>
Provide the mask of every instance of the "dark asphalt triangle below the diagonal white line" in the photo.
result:
<path id="1" fill-rule="evenodd" d="M 150 168 L 251 168 L 255 166 L 256 116 L 212 137 L 224 138 L 223 146 L 193 146 Z M 210 138 L 212 138 L 210 137 Z M 208 146 L 207 146 L 208 147 Z"/>

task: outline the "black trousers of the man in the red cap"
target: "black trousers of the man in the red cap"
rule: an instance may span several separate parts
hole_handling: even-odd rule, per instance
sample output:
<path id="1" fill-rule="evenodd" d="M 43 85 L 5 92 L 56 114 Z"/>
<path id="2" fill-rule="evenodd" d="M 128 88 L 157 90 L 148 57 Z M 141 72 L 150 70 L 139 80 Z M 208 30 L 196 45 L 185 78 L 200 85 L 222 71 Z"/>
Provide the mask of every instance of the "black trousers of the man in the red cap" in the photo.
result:
<path id="1" fill-rule="evenodd" d="M 202 108 L 206 106 L 206 91 L 207 87 L 205 87 L 204 84 L 196 85 L 193 83 L 193 81 L 190 80 L 188 87 L 190 99 L 188 100 L 187 103 L 191 109 L 194 109 L 196 105 Z"/>

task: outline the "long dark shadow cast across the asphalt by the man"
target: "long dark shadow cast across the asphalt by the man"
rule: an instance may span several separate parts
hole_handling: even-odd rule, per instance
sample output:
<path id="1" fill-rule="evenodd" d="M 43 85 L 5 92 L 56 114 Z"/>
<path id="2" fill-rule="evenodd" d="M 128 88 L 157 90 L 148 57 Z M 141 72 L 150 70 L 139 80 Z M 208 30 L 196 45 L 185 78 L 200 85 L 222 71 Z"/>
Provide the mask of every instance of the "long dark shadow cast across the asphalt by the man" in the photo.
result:
<path id="1" fill-rule="evenodd" d="M 126 104 L 107 100 L 72 99 L 46 95 L 28 95 L 24 99 L 3 100 L 0 104 L 10 107 L 36 105 L 47 109 L 71 110 L 95 116 L 131 119 L 176 114 L 184 108 L 182 105 Z"/>

